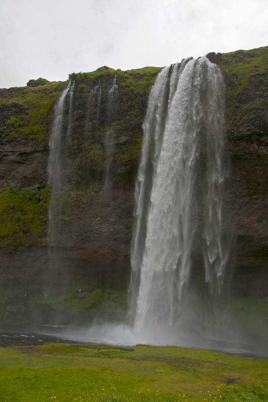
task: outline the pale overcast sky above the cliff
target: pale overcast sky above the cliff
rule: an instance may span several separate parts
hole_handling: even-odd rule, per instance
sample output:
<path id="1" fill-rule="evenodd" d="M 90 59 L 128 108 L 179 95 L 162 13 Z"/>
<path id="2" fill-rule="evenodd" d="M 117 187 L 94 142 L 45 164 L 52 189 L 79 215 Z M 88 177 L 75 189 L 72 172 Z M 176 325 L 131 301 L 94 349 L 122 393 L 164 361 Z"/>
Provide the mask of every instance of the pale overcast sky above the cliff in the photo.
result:
<path id="1" fill-rule="evenodd" d="M 268 45 L 267 0 L 0 0 L 0 88 Z"/>

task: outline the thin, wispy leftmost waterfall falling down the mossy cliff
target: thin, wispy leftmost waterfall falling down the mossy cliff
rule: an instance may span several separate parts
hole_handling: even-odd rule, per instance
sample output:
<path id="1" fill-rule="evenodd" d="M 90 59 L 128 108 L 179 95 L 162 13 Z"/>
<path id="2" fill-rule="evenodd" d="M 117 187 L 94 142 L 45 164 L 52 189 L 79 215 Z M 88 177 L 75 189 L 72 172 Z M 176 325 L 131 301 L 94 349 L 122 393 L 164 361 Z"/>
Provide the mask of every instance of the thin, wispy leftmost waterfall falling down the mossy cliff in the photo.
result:
<path id="1" fill-rule="evenodd" d="M 60 235 L 61 197 L 60 191 L 63 181 L 63 165 L 71 142 L 71 115 L 72 97 L 75 81 L 69 80 L 67 87 L 62 91 L 55 105 L 52 131 L 49 140 L 48 184 L 51 186 L 49 204 L 48 243 L 55 246 Z M 69 94 L 68 121 L 66 135 L 64 135 L 64 109 L 66 96 Z"/>

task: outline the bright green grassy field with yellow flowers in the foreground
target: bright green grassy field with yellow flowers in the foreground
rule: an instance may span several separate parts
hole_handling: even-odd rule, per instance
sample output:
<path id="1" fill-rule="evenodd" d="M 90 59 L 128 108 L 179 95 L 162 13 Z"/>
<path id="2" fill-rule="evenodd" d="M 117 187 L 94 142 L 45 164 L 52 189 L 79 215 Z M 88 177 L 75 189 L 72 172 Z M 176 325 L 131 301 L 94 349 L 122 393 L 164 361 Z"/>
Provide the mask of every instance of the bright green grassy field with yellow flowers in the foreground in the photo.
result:
<path id="1" fill-rule="evenodd" d="M 0 401 L 267 401 L 268 362 L 179 347 L 0 348 Z"/>

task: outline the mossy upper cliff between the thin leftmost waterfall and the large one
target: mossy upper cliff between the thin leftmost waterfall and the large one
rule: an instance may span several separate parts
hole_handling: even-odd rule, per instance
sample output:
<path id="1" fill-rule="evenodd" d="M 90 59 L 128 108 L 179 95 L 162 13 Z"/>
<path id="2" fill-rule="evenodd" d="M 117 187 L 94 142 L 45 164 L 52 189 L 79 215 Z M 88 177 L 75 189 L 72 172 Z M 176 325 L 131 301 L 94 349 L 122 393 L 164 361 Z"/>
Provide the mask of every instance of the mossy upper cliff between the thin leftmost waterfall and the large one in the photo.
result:
<path id="1" fill-rule="evenodd" d="M 98 85 L 101 78 L 102 85 L 107 88 L 102 92 L 100 110 L 96 108 L 90 116 L 90 132 L 83 141 L 81 134 L 85 126 L 85 110 L 79 111 L 75 107 L 73 117 L 73 146 L 77 155 L 74 169 L 81 171 L 85 168 L 94 172 L 103 172 L 105 167 L 104 141 L 106 133 L 114 131 L 115 149 L 111 161 L 111 169 L 114 172 L 134 172 L 137 168 L 141 141 L 142 122 L 146 112 L 147 98 L 154 80 L 161 70 L 159 67 L 144 67 L 136 70 L 113 70 L 102 67 L 92 73 L 78 73 L 75 75 L 79 91 L 79 105 L 87 103 L 92 89 Z M 109 122 L 106 119 L 108 110 L 107 93 L 111 87 L 111 80 L 117 74 L 117 103 L 114 117 L 117 120 Z M 78 98 L 77 98 L 78 99 Z M 76 99 L 76 102 L 77 102 Z M 82 100 L 83 99 L 83 100 Z M 96 106 L 96 105 L 95 105 Z M 99 113 L 99 120 L 97 115 Z M 93 119 L 94 117 L 94 119 Z M 105 117 L 105 118 L 104 118 Z M 127 139 L 127 141 L 124 141 Z M 121 144 L 122 142 L 122 144 Z"/>

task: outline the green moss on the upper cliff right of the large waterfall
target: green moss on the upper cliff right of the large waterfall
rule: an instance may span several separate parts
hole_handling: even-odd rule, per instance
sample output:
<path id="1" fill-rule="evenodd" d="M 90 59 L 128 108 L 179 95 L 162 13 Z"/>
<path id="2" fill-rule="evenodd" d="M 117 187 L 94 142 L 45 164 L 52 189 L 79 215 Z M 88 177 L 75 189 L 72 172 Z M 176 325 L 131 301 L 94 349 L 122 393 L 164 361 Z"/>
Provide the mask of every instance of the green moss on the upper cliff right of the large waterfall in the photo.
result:
<path id="1" fill-rule="evenodd" d="M 227 132 L 232 141 L 243 137 L 250 141 L 252 130 L 264 141 L 265 114 L 268 108 L 268 47 L 220 54 L 227 86 Z M 251 129 L 248 123 L 251 123 Z M 251 132 L 250 132 L 251 130 Z M 267 145 L 267 141 L 264 141 Z"/>

